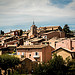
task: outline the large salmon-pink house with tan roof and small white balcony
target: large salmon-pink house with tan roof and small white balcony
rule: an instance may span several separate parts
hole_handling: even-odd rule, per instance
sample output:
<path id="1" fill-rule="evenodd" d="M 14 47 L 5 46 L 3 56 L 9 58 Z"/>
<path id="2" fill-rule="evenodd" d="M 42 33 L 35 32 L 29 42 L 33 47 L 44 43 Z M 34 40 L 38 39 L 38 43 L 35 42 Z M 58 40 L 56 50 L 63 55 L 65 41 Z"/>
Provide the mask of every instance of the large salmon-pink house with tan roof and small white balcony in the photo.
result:
<path id="1" fill-rule="evenodd" d="M 17 55 L 21 58 L 28 58 L 32 61 L 47 62 L 51 57 L 54 48 L 49 45 L 23 45 L 17 47 Z"/>

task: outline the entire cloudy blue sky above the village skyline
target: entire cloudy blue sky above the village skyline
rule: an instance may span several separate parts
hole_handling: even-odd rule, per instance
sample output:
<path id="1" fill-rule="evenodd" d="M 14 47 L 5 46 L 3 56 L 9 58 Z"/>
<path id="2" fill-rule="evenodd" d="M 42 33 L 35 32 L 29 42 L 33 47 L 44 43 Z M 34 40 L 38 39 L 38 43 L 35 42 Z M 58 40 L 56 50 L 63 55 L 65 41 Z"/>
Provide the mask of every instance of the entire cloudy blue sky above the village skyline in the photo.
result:
<path id="1" fill-rule="evenodd" d="M 0 30 L 68 24 L 75 29 L 75 0 L 0 0 Z"/>

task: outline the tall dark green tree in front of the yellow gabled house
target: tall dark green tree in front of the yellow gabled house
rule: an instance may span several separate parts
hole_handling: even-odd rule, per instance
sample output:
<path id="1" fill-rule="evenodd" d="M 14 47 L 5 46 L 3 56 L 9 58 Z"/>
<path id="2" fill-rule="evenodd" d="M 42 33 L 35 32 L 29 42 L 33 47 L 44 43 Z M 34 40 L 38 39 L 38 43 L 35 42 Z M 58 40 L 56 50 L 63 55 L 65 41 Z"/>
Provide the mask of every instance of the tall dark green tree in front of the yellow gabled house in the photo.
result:
<path id="1" fill-rule="evenodd" d="M 66 66 L 64 64 L 65 64 L 65 62 L 64 62 L 63 58 L 60 55 L 57 56 L 55 54 L 54 58 L 52 60 L 50 60 L 50 62 L 49 62 L 49 67 L 50 67 L 49 70 L 51 70 L 51 72 L 54 75 L 65 75 L 66 74 Z"/>

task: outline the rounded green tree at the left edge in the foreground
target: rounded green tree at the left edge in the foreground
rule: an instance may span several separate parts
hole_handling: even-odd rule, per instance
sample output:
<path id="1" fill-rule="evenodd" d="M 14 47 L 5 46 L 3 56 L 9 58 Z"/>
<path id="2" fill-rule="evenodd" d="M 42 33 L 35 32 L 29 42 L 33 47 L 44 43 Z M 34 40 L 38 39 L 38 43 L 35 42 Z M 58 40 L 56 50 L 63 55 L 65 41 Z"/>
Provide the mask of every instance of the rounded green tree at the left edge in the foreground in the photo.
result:
<path id="1" fill-rule="evenodd" d="M 0 67 L 5 70 L 5 75 L 6 75 L 6 70 L 8 68 L 14 68 L 15 65 L 19 64 L 19 59 L 14 57 L 14 56 L 10 56 L 10 55 L 1 55 L 0 56 Z"/>

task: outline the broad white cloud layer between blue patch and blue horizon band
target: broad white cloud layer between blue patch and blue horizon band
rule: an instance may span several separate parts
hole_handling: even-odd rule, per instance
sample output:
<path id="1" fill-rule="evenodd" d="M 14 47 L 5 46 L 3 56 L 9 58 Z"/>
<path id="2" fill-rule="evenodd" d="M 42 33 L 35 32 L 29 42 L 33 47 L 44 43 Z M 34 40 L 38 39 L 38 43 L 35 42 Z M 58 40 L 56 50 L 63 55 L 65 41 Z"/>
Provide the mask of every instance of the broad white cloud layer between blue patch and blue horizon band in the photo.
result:
<path id="1" fill-rule="evenodd" d="M 42 23 L 73 19 L 75 23 L 74 14 L 75 0 L 64 8 L 53 6 L 49 0 L 0 0 L 0 25 L 23 24 L 33 19 Z"/>

